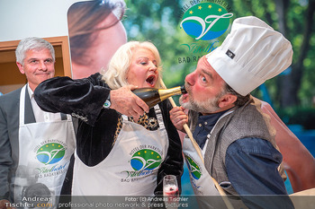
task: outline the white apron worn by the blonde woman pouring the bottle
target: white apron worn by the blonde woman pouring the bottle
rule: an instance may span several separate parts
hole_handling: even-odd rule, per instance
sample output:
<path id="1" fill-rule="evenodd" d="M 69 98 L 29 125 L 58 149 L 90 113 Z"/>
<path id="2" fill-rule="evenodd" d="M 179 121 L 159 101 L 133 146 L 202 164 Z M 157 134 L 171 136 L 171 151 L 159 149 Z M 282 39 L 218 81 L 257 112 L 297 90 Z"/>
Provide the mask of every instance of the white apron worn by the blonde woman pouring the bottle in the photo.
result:
<path id="1" fill-rule="evenodd" d="M 157 170 L 168 149 L 166 128 L 158 105 L 155 110 L 159 125 L 155 131 L 149 131 L 122 116 L 121 132 L 116 143 L 99 164 L 88 167 L 76 156 L 73 196 L 154 195 Z"/>

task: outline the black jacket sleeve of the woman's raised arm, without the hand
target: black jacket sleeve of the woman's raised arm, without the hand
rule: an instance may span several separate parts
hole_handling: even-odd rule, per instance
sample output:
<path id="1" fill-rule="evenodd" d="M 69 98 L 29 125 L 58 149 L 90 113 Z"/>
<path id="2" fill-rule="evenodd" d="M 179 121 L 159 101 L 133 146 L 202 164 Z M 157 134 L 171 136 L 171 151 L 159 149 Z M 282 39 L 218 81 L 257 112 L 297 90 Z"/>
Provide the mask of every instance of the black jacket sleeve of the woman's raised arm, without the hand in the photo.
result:
<path id="1" fill-rule="evenodd" d="M 34 91 L 34 98 L 44 111 L 70 114 L 94 126 L 111 91 L 101 77 L 97 73 L 77 80 L 51 78 L 40 83 Z"/>

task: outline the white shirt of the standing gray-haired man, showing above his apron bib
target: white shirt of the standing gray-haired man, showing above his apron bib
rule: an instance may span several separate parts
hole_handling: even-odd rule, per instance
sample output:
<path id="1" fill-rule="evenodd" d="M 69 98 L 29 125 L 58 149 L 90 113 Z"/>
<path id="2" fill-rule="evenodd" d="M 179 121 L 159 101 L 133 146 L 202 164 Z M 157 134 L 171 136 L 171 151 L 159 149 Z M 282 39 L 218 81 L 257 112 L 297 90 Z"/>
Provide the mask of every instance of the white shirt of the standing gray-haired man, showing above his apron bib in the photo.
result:
<path id="1" fill-rule="evenodd" d="M 31 100 L 31 108 L 34 113 L 34 117 L 36 122 L 52 122 L 52 121 L 60 121 L 61 116 L 60 113 L 50 113 L 40 109 L 38 104 L 34 99 L 34 92 L 31 91 L 30 85 L 27 85 L 27 90 L 29 91 L 30 100 Z"/>

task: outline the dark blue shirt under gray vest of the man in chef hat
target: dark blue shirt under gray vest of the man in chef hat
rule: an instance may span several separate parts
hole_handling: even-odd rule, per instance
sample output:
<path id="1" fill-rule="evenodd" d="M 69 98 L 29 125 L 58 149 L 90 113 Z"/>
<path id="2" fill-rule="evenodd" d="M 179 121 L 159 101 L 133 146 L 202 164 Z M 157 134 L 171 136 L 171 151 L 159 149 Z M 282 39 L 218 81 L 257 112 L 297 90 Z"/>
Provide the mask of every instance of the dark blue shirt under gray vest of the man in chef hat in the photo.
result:
<path id="1" fill-rule="evenodd" d="M 202 148 L 207 141 L 207 135 L 224 113 L 199 116 L 193 137 Z M 281 153 L 270 142 L 255 137 L 238 139 L 229 144 L 226 152 L 225 165 L 229 182 L 220 186 L 232 186 L 239 195 L 287 195 L 283 179 L 277 171 L 281 161 Z M 264 205 L 247 199 L 246 196 L 241 198 L 249 208 Z M 284 200 L 279 203 L 287 204 L 291 208 L 291 201 L 286 197 Z"/>

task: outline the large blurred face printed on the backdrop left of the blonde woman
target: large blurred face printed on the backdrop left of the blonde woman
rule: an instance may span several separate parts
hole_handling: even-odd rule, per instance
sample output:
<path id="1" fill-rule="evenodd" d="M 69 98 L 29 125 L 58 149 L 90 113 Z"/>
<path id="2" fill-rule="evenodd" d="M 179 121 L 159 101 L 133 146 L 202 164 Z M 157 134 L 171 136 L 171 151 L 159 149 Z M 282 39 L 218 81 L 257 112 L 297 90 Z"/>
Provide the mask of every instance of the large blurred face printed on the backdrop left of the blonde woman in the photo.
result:
<path id="1" fill-rule="evenodd" d="M 67 12 L 73 78 L 105 68 L 114 52 L 127 42 L 121 22 L 126 5 L 121 1 L 84 1 Z"/>

